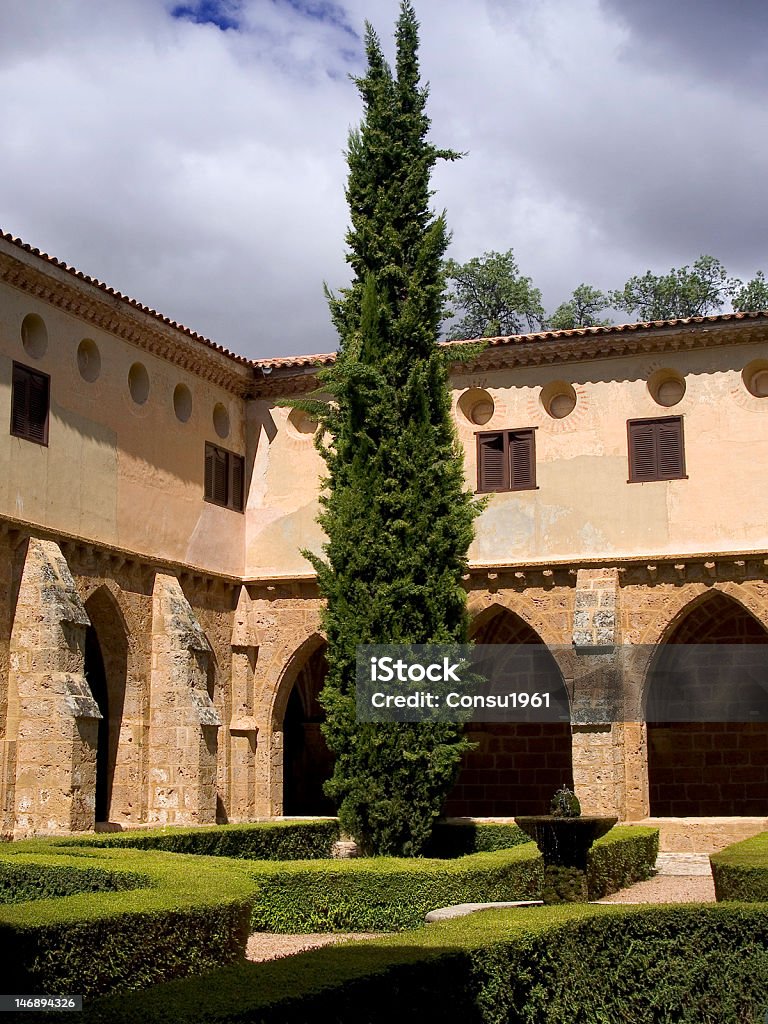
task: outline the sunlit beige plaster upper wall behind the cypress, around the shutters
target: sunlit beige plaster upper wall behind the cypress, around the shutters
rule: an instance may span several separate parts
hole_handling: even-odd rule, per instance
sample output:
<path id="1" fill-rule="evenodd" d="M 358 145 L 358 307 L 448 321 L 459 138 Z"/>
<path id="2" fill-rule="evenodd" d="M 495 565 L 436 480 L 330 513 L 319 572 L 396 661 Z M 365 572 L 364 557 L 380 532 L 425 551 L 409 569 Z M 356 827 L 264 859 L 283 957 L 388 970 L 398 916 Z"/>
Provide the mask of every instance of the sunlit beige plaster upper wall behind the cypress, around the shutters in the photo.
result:
<path id="1" fill-rule="evenodd" d="M 695 351 L 496 370 L 454 378 L 454 411 L 468 485 L 477 482 L 477 431 L 536 428 L 537 489 L 492 495 L 477 523 L 470 562 L 659 557 L 768 547 L 768 489 L 756 466 L 768 461 L 768 398 L 756 398 L 741 374 L 766 347 L 723 345 Z M 767 364 L 768 365 L 768 364 Z M 679 373 L 686 391 L 667 408 L 648 380 Z M 565 381 L 578 401 L 553 419 L 542 389 Z M 459 408 L 469 388 L 494 398 L 479 427 Z M 288 410 L 256 402 L 258 427 L 248 512 L 249 575 L 309 572 L 300 549 L 318 551 L 317 480 L 324 464 L 288 422 Z M 628 482 L 627 421 L 682 416 L 687 478 Z M 724 476 L 725 474 L 725 476 Z"/>

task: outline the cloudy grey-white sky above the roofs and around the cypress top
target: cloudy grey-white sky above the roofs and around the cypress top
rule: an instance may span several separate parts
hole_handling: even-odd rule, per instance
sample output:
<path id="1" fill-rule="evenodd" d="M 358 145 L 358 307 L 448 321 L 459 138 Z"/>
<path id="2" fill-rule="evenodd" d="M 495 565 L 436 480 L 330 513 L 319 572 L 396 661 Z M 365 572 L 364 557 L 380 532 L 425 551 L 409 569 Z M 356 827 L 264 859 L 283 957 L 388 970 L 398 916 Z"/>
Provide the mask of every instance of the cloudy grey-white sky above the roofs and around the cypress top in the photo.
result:
<path id="1" fill-rule="evenodd" d="M 762 0 L 415 0 L 437 208 L 581 282 L 768 269 Z M 347 131 L 397 0 L 0 0 L 0 228 L 236 351 L 336 347 Z"/>

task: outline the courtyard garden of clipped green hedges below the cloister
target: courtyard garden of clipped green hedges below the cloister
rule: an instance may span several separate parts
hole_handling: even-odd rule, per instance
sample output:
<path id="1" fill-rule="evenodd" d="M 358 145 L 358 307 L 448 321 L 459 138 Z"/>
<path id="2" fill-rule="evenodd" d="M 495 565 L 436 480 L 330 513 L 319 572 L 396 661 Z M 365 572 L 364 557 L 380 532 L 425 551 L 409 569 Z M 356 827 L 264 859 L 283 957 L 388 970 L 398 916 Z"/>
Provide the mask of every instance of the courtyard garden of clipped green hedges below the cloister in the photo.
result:
<path id="1" fill-rule="evenodd" d="M 536 845 L 510 824 L 444 824 L 430 856 L 337 860 L 337 838 L 322 820 L 6 844 L 3 990 L 82 993 L 87 1022 L 762 1021 L 768 835 L 713 855 L 718 904 L 429 925 L 436 907 L 541 898 Z M 656 854 L 654 829 L 612 828 L 589 854 L 589 899 L 647 879 Z M 380 934 L 245 959 L 253 933 L 316 932 Z"/>

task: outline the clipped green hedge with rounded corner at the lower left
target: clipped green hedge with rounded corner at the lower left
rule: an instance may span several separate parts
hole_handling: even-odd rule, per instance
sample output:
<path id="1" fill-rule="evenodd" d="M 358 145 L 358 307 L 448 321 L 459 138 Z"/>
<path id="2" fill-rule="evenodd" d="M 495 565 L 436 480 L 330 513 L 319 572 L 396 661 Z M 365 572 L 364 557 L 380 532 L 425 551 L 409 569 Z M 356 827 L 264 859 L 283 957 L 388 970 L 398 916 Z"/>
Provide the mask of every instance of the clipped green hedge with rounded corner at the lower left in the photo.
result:
<path id="1" fill-rule="evenodd" d="M 113 876 L 114 890 L 0 907 L 1 970 L 16 992 L 144 988 L 210 971 L 243 956 L 253 883 L 233 861 L 139 850 L 69 851 L 30 842 L 0 847 L 0 864 L 25 879 L 47 869 L 54 882 Z M 83 866 L 83 856 L 91 860 Z M 94 878 L 95 874 L 90 874 Z M 137 878 L 142 888 L 133 888 Z"/>

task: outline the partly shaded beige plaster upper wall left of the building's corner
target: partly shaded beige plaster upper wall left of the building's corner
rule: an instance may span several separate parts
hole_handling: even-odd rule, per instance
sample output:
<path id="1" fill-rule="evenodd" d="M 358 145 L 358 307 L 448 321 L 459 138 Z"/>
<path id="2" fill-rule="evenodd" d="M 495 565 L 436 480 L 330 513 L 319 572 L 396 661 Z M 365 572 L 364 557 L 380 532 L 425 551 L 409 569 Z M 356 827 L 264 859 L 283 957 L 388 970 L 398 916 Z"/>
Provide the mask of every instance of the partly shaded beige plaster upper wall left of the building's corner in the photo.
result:
<path id="1" fill-rule="evenodd" d="M 22 342 L 28 313 L 40 315 L 48 345 L 39 357 Z M 83 379 L 78 345 L 90 338 L 100 353 L 100 376 Z M 0 430 L 0 515 L 86 538 L 157 559 L 239 574 L 245 517 L 203 498 L 206 440 L 245 454 L 245 402 L 223 387 L 176 367 L 0 284 L 0 424 L 10 423 L 11 369 L 16 360 L 49 374 L 49 443 L 42 446 Z M 143 404 L 130 395 L 128 373 L 141 362 L 150 377 Z M 186 423 L 176 417 L 173 392 L 193 396 Z M 220 438 L 217 402 L 229 414 Z"/>

